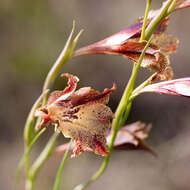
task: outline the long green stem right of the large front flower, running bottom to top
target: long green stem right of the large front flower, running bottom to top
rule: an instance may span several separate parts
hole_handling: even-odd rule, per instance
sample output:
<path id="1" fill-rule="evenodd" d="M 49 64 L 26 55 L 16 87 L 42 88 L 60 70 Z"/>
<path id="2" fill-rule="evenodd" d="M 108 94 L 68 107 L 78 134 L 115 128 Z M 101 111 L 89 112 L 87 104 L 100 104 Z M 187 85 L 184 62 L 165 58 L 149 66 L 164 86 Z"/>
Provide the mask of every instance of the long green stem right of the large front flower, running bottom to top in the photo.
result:
<path id="1" fill-rule="evenodd" d="M 75 190 L 84 190 L 90 183 L 92 183 L 93 181 L 95 181 L 97 178 L 99 178 L 105 171 L 105 169 L 107 168 L 110 156 L 111 156 L 111 152 L 113 149 L 113 145 L 114 145 L 114 141 L 117 135 L 117 132 L 119 130 L 119 128 L 124 124 L 124 122 L 127 120 L 127 117 L 130 113 L 131 110 L 131 105 L 132 105 L 132 101 L 129 101 L 133 87 L 134 87 L 134 83 L 140 68 L 140 65 L 142 63 L 143 57 L 145 55 L 145 52 L 147 50 L 147 48 L 150 45 L 151 42 L 151 35 L 154 32 L 154 30 L 156 29 L 156 27 L 160 24 L 160 22 L 165 18 L 165 16 L 167 16 L 167 11 L 168 8 L 171 6 L 171 3 L 174 2 L 175 0 L 168 0 L 164 6 L 161 8 L 159 14 L 151 21 L 151 23 L 148 25 L 147 29 L 145 30 L 144 28 L 146 28 L 146 22 L 147 22 L 147 16 L 148 16 L 148 12 L 149 12 L 149 7 L 146 9 L 145 12 L 145 19 L 144 19 L 144 23 L 143 23 L 143 28 L 142 28 L 142 32 L 145 30 L 145 34 L 141 34 L 141 40 L 148 40 L 144 50 L 142 51 L 138 64 L 135 66 L 135 69 L 132 72 L 132 75 L 130 77 L 130 80 L 126 86 L 126 89 L 123 93 L 123 96 L 121 98 L 121 101 L 118 105 L 118 108 L 116 110 L 115 113 L 115 119 L 112 122 L 112 136 L 111 136 L 111 142 L 109 144 L 109 155 L 105 158 L 104 162 L 102 163 L 100 169 L 91 177 L 91 179 L 84 183 L 84 184 L 80 184 L 79 186 L 77 186 L 75 188 Z M 149 5 L 150 5 L 150 1 L 149 1 Z M 152 77 L 151 77 L 152 78 Z M 127 109 L 126 109 L 127 108 Z M 126 111 L 125 111 L 126 109 Z M 125 111 L 125 114 L 123 116 L 123 113 Z M 123 118 L 122 118 L 123 116 Z M 121 120 L 122 118 L 122 120 Z"/>

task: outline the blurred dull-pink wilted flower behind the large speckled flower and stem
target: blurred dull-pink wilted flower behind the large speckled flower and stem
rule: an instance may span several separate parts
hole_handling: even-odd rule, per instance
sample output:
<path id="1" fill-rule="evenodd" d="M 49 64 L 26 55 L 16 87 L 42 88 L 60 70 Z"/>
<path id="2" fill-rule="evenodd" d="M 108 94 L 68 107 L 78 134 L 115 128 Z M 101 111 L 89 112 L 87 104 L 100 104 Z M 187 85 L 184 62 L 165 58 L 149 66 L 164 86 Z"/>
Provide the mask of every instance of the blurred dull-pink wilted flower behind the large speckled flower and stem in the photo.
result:
<path id="1" fill-rule="evenodd" d="M 114 141 L 114 149 L 117 150 L 145 150 L 155 155 L 155 152 L 151 147 L 147 146 L 143 140 L 148 137 L 152 125 L 145 125 L 142 122 L 135 122 L 130 125 L 122 127 Z M 107 136 L 107 145 L 110 143 L 111 134 Z M 56 153 L 64 153 L 69 147 L 69 143 L 65 143 L 56 148 Z M 70 150 L 74 149 L 74 144 L 70 147 Z M 91 151 L 87 149 L 87 151 Z"/>

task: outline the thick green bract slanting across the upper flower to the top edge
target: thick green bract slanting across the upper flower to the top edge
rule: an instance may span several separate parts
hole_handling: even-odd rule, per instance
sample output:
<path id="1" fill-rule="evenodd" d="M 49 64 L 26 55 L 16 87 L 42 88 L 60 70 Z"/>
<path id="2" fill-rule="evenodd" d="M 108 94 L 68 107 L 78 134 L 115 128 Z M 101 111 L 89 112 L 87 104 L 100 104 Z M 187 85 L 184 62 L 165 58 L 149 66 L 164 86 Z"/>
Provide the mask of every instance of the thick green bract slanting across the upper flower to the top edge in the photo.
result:
<path id="1" fill-rule="evenodd" d="M 170 7 L 170 5 L 174 2 L 175 0 L 168 0 L 165 5 L 160 9 L 160 12 L 152 19 L 150 24 L 145 30 L 145 40 L 148 40 L 154 30 L 157 28 L 157 26 L 162 22 L 162 20 L 167 16 L 167 11 Z"/>

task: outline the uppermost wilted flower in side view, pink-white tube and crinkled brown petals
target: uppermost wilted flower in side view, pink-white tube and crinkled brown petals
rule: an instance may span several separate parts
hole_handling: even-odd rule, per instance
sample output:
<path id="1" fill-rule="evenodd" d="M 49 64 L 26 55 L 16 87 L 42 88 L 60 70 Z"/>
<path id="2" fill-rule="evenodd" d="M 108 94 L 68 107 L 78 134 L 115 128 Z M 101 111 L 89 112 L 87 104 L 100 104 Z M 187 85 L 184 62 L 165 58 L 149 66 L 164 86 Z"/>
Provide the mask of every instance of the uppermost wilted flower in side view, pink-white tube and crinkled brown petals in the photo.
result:
<path id="1" fill-rule="evenodd" d="M 190 6 L 189 1 L 177 1 L 174 10 Z M 150 11 L 147 26 L 157 15 L 159 10 Z M 157 72 L 157 79 L 170 80 L 173 77 L 172 68 L 169 66 L 169 54 L 176 51 L 178 40 L 166 34 L 169 16 L 164 18 L 155 30 L 150 47 L 147 49 L 141 66 Z M 137 62 L 146 42 L 140 42 L 143 18 L 138 19 L 132 26 L 89 46 L 78 49 L 74 56 L 86 54 L 113 54 L 123 55 Z"/>

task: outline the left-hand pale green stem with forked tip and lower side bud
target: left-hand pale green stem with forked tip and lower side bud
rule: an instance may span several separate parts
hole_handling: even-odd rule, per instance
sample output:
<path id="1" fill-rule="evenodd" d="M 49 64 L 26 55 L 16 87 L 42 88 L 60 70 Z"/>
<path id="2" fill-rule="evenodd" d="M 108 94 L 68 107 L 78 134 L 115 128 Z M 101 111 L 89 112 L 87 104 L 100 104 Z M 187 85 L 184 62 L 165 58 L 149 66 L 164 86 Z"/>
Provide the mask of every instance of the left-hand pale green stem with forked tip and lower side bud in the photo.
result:
<path id="1" fill-rule="evenodd" d="M 78 33 L 78 35 L 75 37 L 75 39 L 73 40 L 74 30 L 75 30 L 75 23 L 73 22 L 73 28 L 72 28 L 72 31 L 69 35 L 67 42 L 66 42 L 66 45 L 65 45 L 64 49 L 62 50 L 60 56 L 58 57 L 58 59 L 56 60 L 56 62 L 52 66 L 52 68 L 50 69 L 50 71 L 49 71 L 49 73 L 45 79 L 43 90 L 42 90 L 45 93 L 45 95 L 43 97 L 42 96 L 39 97 L 39 99 L 36 101 L 36 103 L 32 107 L 30 114 L 27 118 L 25 129 L 24 129 L 24 139 L 26 142 L 25 150 L 28 148 L 27 146 L 28 146 L 28 144 L 30 144 L 30 141 L 32 140 L 33 135 L 38 131 L 38 130 L 36 130 L 36 126 L 38 126 L 40 119 L 38 118 L 37 120 L 35 120 L 35 118 L 34 118 L 35 110 L 39 106 L 39 104 L 41 103 L 42 99 L 43 99 L 42 106 L 45 105 L 47 97 L 48 97 L 48 93 L 46 93 L 46 90 L 50 88 L 52 82 L 55 80 L 55 78 L 56 78 L 58 72 L 61 70 L 61 67 L 63 66 L 63 64 L 66 63 L 66 61 L 68 61 L 69 58 L 71 58 L 72 53 L 74 51 L 74 48 L 77 44 L 77 41 L 78 41 L 78 39 L 82 33 L 82 30 L 81 30 Z M 33 130 L 34 125 L 35 125 L 35 131 Z M 31 169 L 29 166 L 29 155 L 28 154 L 26 155 L 26 157 L 25 157 L 25 168 L 26 168 L 26 173 L 27 173 L 27 175 L 26 175 L 26 178 L 27 178 L 26 189 L 27 190 L 33 189 L 35 177 L 36 177 L 40 167 L 43 165 L 43 163 L 50 156 L 50 154 L 53 150 L 57 136 L 58 136 L 57 134 L 54 134 L 51 137 L 47 146 L 44 148 L 44 150 L 42 151 L 42 153 L 40 154 L 38 159 L 34 162 Z M 29 169 L 30 169 L 30 171 L 29 171 Z"/>

